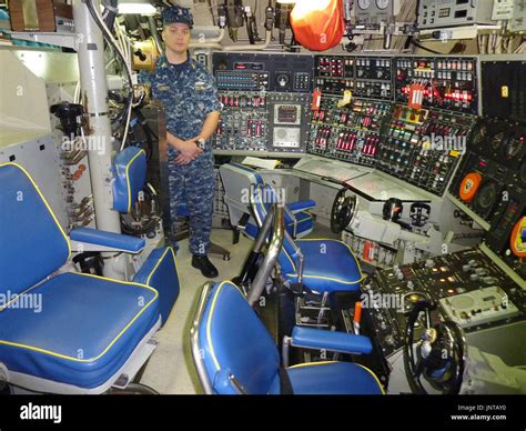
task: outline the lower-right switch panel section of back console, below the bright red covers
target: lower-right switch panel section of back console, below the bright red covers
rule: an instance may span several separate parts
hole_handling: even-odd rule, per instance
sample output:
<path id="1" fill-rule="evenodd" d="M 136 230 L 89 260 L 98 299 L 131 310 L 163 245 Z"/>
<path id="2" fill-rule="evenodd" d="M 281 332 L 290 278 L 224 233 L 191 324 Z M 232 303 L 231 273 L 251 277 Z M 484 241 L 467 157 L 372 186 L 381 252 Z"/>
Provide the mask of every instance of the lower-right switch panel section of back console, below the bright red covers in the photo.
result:
<path id="1" fill-rule="evenodd" d="M 474 117 L 395 106 L 378 169 L 442 196 L 461 156 Z"/>

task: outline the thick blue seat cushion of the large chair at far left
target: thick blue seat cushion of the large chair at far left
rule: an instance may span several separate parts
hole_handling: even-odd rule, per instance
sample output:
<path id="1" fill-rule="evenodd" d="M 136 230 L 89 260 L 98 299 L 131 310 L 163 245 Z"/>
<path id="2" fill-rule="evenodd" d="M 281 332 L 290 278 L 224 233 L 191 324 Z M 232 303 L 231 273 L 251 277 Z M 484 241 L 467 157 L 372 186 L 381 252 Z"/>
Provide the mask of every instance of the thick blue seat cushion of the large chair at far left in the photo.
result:
<path id="1" fill-rule="evenodd" d="M 34 307 L 39 297 L 41 307 Z M 22 308 L 31 298 L 33 307 Z M 120 370 L 158 320 L 152 288 L 63 273 L 0 312 L 0 362 L 9 371 L 98 388 Z"/>

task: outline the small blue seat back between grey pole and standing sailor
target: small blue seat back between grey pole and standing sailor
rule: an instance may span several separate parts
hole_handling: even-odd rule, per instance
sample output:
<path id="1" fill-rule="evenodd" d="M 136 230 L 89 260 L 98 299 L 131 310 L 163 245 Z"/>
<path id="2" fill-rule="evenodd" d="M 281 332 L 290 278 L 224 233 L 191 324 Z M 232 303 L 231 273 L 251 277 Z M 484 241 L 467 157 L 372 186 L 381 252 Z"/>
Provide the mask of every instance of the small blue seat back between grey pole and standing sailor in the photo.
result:
<path id="1" fill-rule="evenodd" d="M 128 147 L 113 159 L 113 209 L 128 213 L 146 180 L 146 153 L 136 147 Z"/>

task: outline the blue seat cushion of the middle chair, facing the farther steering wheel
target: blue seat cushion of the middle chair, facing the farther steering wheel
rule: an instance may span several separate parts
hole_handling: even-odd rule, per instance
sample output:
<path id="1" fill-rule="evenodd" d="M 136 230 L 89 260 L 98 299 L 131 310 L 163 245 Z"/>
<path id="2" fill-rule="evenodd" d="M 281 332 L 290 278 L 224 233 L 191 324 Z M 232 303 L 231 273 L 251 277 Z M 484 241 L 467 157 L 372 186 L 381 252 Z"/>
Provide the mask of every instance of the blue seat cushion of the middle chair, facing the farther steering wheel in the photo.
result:
<path id="1" fill-rule="evenodd" d="M 360 289 L 362 271 L 348 245 L 331 239 L 302 239 L 296 244 L 304 255 L 303 283 L 307 288 L 318 293 Z M 296 272 L 285 277 L 297 281 Z"/>

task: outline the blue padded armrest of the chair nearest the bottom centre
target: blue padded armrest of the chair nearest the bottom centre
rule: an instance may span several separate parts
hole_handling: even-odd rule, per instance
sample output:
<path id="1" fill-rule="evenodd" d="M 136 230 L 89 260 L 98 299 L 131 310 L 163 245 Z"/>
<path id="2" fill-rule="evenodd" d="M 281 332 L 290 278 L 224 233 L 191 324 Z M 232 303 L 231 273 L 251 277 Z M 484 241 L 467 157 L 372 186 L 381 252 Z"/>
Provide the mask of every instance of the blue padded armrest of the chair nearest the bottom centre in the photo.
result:
<path id="1" fill-rule="evenodd" d="M 294 327 L 292 330 L 291 345 L 354 354 L 368 354 L 373 351 L 367 337 L 303 327 Z"/>

